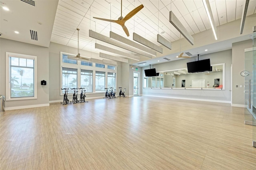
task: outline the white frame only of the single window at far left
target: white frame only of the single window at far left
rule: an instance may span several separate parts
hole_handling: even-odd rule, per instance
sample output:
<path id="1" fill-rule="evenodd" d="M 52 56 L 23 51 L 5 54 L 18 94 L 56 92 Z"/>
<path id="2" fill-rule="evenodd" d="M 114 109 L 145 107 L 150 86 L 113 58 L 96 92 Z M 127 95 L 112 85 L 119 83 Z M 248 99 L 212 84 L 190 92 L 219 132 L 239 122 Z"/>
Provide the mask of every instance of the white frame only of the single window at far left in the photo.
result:
<path id="1" fill-rule="evenodd" d="M 10 57 L 34 60 L 34 96 L 11 98 Z M 37 99 L 37 56 L 6 52 L 6 100 L 12 101 L 12 100 L 31 100 L 31 99 Z"/>

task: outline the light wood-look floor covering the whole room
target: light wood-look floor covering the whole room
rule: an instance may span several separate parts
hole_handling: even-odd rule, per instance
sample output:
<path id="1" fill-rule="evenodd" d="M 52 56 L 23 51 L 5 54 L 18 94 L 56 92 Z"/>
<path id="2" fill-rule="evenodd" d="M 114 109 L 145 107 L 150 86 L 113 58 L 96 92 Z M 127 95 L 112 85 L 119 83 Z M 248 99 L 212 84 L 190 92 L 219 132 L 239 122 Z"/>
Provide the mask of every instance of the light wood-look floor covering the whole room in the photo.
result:
<path id="1" fill-rule="evenodd" d="M 230 104 L 130 97 L 0 113 L 1 170 L 256 170 Z"/>

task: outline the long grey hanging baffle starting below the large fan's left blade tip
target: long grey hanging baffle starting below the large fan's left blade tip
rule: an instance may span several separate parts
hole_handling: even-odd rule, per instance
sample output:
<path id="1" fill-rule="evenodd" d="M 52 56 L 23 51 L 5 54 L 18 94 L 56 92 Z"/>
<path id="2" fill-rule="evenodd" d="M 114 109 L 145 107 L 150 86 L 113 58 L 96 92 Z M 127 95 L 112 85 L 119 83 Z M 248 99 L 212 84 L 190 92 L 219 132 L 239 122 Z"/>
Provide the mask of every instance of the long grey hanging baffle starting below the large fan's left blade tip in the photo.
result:
<path id="1" fill-rule="evenodd" d="M 111 33 L 110 33 L 111 35 Z M 146 57 L 149 57 L 149 58 L 152 58 L 152 54 L 148 54 L 147 52 L 144 52 L 144 51 L 141 51 L 141 50 L 138 50 L 132 46 L 128 46 L 127 44 L 123 44 L 123 43 L 120 43 L 116 40 L 112 40 L 110 39 L 109 37 L 107 36 L 104 36 L 102 34 L 99 34 L 98 32 L 94 32 L 92 30 L 89 30 L 89 36 L 92 37 L 92 38 L 95 38 L 97 40 L 100 40 L 100 41 L 103 41 L 103 42 L 106 42 L 108 44 L 112 44 L 114 46 L 118 46 L 120 48 L 124 48 L 125 50 L 129 50 L 129 51 L 132 51 L 132 52 L 136 52 L 138 54 L 141 54 L 143 56 L 146 56 Z M 148 49 L 148 48 L 147 48 Z M 149 50 L 149 49 L 148 49 Z"/>

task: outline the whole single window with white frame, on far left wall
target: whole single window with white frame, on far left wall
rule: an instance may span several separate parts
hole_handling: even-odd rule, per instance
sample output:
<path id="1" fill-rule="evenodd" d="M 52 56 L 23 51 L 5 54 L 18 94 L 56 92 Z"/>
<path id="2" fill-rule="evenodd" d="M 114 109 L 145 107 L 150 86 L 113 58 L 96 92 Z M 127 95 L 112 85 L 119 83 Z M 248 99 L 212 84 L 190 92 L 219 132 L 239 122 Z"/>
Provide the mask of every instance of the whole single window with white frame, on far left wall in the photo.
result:
<path id="1" fill-rule="evenodd" d="M 36 99 L 36 56 L 6 52 L 6 100 Z"/>

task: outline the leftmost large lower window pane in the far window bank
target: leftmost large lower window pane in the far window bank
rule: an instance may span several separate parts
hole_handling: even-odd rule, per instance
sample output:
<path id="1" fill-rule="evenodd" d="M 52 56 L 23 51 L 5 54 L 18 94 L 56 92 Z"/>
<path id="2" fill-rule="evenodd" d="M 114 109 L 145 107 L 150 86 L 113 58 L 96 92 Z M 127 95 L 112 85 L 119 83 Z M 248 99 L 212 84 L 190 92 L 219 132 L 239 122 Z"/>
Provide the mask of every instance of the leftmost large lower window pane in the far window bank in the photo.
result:
<path id="1" fill-rule="evenodd" d="M 62 67 L 62 88 L 77 88 L 77 69 Z M 64 94 L 64 90 L 62 90 Z"/>

